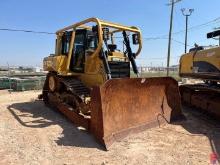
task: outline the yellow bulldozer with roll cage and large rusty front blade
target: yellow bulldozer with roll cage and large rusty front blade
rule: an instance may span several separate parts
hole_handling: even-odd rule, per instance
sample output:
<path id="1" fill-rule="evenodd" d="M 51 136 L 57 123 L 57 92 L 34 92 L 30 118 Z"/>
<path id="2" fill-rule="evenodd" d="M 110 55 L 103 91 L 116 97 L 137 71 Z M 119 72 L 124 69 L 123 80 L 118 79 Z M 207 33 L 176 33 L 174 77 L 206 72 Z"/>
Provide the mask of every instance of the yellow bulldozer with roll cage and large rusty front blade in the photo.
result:
<path id="1" fill-rule="evenodd" d="M 137 27 L 89 18 L 56 36 L 55 54 L 43 60 L 48 73 L 40 97 L 106 149 L 130 133 L 181 116 L 176 80 L 139 78 Z M 131 78 L 131 70 L 137 78 Z"/>

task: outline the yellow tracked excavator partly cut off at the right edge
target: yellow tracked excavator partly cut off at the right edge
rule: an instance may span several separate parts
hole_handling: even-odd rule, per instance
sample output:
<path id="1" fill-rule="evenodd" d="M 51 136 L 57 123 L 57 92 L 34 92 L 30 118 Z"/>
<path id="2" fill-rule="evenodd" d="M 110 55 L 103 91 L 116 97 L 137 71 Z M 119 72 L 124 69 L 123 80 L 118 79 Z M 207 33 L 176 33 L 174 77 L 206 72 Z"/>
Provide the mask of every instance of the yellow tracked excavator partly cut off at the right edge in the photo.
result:
<path id="1" fill-rule="evenodd" d="M 220 37 L 220 30 L 207 34 L 207 38 L 213 37 Z M 220 47 L 195 45 L 180 59 L 180 76 L 203 80 L 181 85 L 182 101 L 220 117 Z"/>

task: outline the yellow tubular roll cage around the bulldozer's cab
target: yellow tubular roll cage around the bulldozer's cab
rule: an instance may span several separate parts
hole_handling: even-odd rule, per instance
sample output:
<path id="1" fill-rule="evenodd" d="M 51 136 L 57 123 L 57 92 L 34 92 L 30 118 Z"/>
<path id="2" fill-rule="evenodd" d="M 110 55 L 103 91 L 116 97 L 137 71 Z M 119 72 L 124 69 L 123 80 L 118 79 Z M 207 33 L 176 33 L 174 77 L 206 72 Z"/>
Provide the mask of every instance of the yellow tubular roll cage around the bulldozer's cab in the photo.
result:
<path id="1" fill-rule="evenodd" d="M 69 30 L 73 30 L 72 32 L 72 37 L 70 40 L 70 48 L 69 48 L 69 54 L 68 54 L 68 61 L 67 61 L 67 69 L 69 69 L 69 65 L 70 65 L 70 60 L 71 60 L 71 52 L 73 49 L 73 43 L 74 43 L 74 39 L 75 39 L 75 31 L 77 28 L 85 28 L 85 29 L 90 29 L 92 30 L 91 26 L 87 26 L 86 24 L 88 23 L 96 23 L 97 24 L 97 33 L 98 33 L 98 45 L 96 50 L 92 53 L 91 57 L 96 56 L 97 54 L 99 54 L 100 51 L 102 51 L 102 47 L 103 47 L 103 43 L 105 42 L 105 38 L 103 37 L 103 29 L 105 28 L 112 28 L 113 30 L 109 31 L 109 34 L 111 36 L 111 42 L 114 43 L 114 34 L 117 32 L 122 32 L 123 37 L 124 37 L 124 44 L 127 47 L 127 54 L 128 54 L 128 58 L 131 62 L 132 68 L 134 73 L 136 73 L 138 75 L 138 70 L 137 70 L 137 66 L 135 63 L 135 57 L 138 56 L 141 52 L 142 49 L 142 39 L 141 39 L 141 32 L 139 30 L 139 28 L 135 27 L 135 26 L 124 26 L 124 25 L 120 25 L 120 24 L 116 24 L 116 23 L 111 23 L 111 22 L 107 22 L 107 21 L 103 21 L 100 20 L 98 18 L 89 18 L 86 19 L 84 21 L 75 23 L 73 25 L 67 26 L 63 29 L 60 29 L 56 32 L 57 36 L 62 36 L 64 32 L 69 31 Z M 131 51 L 131 47 L 130 47 L 130 42 L 129 42 L 129 38 L 126 34 L 126 31 L 128 32 L 133 32 L 134 36 L 132 36 L 133 39 L 133 43 L 135 43 L 135 45 L 138 45 L 138 49 L 135 53 L 132 53 Z M 110 70 L 107 64 L 107 60 L 105 59 L 104 61 L 104 65 L 107 65 L 106 67 L 106 72 L 109 75 L 109 78 L 111 78 L 110 76 Z M 105 64 L 106 63 L 106 64 Z"/>

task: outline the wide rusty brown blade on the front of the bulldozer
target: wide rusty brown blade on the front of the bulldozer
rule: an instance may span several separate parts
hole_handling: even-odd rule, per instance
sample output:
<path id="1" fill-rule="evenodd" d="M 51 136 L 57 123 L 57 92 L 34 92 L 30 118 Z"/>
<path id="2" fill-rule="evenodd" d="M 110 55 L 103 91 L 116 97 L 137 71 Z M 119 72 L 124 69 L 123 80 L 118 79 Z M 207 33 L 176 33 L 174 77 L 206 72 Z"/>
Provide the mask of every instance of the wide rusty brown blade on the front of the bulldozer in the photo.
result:
<path id="1" fill-rule="evenodd" d="M 130 133 L 182 116 L 178 83 L 170 77 L 111 79 L 91 94 L 90 131 L 106 149 Z"/>

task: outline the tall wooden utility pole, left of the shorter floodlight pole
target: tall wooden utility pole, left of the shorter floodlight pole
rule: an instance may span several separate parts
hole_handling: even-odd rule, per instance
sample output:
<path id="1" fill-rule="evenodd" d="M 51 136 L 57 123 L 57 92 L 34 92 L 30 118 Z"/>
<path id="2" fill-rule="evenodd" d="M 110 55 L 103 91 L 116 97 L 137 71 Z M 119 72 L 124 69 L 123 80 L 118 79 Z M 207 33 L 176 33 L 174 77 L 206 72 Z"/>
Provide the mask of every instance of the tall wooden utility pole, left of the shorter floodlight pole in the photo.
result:
<path id="1" fill-rule="evenodd" d="M 172 30 L 173 30 L 173 10 L 175 3 L 180 1 L 181 0 L 171 0 L 171 3 L 168 4 L 168 6 L 171 5 L 171 13 L 170 13 L 170 30 L 169 30 L 169 41 L 168 41 L 168 53 L 167 53 L 167 76 L 169 76 L 169 67 L 170 67 L 171 39 L 172 39 Z"/>

